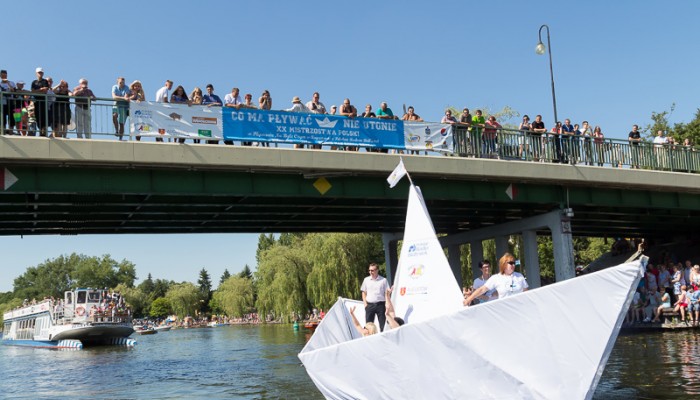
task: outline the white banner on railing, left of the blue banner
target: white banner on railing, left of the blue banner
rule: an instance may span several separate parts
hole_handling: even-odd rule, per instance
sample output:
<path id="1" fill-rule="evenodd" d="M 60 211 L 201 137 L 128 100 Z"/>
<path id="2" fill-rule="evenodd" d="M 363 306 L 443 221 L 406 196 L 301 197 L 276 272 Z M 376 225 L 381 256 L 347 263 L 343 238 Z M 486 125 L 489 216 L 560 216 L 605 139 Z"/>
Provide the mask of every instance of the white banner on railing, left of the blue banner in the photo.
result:
<path id="1" fill-rule="evenodd" d="M 129 103 L 131 134 L 143 137 L 169 137 L 223 140 L 221 107 L 187 104 Z"/>

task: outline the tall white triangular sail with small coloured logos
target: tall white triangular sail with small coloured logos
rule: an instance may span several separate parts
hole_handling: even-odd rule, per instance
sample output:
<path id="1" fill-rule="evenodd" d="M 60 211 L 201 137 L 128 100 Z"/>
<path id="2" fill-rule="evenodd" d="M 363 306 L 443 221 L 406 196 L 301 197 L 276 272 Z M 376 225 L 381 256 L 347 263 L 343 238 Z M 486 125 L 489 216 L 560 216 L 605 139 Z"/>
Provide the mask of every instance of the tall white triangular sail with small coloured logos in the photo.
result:
<path id="1" fill-rule="evenodd" d="M 462 309 L 462 290 L 435 235 L 420 188 L 411 185 L 391 296 L 396 316 L 416 323 Z"/>

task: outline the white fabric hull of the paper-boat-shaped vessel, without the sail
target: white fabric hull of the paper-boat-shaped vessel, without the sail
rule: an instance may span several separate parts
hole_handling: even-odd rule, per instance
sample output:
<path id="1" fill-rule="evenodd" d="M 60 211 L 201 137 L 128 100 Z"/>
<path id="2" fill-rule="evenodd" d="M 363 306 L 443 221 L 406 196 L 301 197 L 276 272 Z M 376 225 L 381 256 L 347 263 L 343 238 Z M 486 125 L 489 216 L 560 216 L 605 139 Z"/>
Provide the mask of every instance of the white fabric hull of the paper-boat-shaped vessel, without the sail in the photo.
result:
<path id="1" fill-rule="evenodd" d="M 329 399 L 589 399 L 642 271 L 619 265 L 299 358 Z"/>

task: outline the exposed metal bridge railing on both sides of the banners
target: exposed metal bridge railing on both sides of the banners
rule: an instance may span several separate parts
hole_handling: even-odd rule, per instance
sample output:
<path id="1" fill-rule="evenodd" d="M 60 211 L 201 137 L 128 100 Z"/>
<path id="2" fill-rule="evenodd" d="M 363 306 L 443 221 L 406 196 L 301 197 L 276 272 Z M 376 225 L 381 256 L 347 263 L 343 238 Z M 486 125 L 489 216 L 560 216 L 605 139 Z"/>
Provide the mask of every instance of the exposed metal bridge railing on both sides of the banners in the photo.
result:
<path id="1" fill-rule="evenodd" d="M 32 100 L 52 102 L 53 107 L 32 107 Z M 65 136 L 70 132 L 78 138 L 140 139 L 129 133 L 128 106 L 120 107 L 113 99 L 0 92 L 0 103 L 0 134 Z M 123 136 L 118 134 L 121 126 Z M 507 128 L 454 125 L 454 152 L 462 157 L 700 172 L 700 151 L 691 146 L 644 141 L 630 144 L 627 140 Z"/>

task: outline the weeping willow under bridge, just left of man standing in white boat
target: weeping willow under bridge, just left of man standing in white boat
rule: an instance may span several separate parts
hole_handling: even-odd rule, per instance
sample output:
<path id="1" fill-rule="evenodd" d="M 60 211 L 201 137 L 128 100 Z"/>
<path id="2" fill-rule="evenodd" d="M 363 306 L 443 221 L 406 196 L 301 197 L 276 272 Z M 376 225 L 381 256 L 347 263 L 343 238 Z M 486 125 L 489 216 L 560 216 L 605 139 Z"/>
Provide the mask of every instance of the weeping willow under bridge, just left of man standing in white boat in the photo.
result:
<path id="1" fill-rule="evenodd" d="M 377 234 L 313 234 L 305 241 L 313 269 L 308 278 L 311 303 L 328 309 L 338 296 L 360 298 L 360 285 L 367 266 L 384 261 L 381 236 Z"/>

